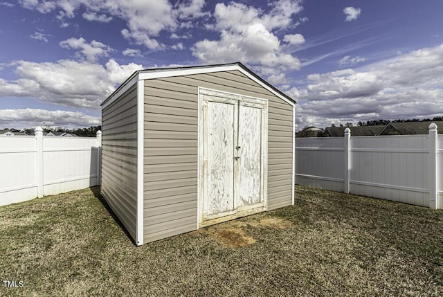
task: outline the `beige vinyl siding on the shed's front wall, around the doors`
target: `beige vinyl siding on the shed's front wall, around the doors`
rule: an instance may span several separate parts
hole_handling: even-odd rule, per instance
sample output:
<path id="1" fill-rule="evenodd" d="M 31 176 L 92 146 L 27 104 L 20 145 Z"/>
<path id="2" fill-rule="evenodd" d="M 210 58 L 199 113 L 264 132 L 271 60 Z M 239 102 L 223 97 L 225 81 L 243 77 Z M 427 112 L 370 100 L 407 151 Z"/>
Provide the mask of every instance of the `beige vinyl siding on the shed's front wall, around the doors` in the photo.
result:
<path id="1" fill-rule="evenodd" d="M 198 87 L 269 100 L 268 205 L 291 205 L 291 105 L 239 71 L 145 80 L 145 242 L 197 228 Z"/>

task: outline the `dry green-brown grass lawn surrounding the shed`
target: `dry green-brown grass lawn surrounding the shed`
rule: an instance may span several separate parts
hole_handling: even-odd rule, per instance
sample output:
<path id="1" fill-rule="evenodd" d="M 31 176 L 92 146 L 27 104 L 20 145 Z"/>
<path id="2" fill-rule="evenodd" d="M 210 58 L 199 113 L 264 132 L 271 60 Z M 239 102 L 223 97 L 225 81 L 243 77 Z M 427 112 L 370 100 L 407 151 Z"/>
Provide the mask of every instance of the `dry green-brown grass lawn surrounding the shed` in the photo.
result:
<path id="1" fill-rule="evenodd" d="M 0 208 L 0 296 L 443 296 L 443 211 L 296 205 L 134 246 L 91 188 Z"/>

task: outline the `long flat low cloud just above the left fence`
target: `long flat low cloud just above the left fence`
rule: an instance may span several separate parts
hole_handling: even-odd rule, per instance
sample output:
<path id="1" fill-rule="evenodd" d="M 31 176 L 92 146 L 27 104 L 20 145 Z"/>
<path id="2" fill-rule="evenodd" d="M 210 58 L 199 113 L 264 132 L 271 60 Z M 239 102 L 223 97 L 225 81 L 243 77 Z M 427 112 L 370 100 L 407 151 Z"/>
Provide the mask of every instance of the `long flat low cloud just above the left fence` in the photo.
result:
<path id="1" fill-rule="evenodd" d="M 79 111 L 44 109 L 0 109 L 0 125 L 4 127 L 90 127 L 100 125 L 100 118 Z"/>

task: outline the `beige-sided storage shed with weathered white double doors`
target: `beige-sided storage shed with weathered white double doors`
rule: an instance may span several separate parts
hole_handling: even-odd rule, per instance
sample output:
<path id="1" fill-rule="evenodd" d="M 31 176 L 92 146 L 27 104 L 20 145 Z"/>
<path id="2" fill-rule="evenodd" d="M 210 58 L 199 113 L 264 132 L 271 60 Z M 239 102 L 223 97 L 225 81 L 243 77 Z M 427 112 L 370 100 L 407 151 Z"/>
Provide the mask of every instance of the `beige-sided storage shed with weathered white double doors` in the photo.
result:
<path id="1" fill-rule="evenodd" d="M 136 71 L 102 103 L 101 194 L 137 245 L 289 206 L 295 106 L 241 63 Z"/>

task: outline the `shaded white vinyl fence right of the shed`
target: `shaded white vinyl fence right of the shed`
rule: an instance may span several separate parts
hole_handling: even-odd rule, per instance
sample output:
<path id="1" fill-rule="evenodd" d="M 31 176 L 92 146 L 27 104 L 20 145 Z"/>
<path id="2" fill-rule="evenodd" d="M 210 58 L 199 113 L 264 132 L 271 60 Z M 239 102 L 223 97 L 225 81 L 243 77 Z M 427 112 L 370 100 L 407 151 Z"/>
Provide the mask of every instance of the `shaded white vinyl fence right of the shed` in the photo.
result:
<path id="1" fill-rule="evenodd" d="M 443 208 L 443 135 L 296 138 L 296 183 Z"/>

